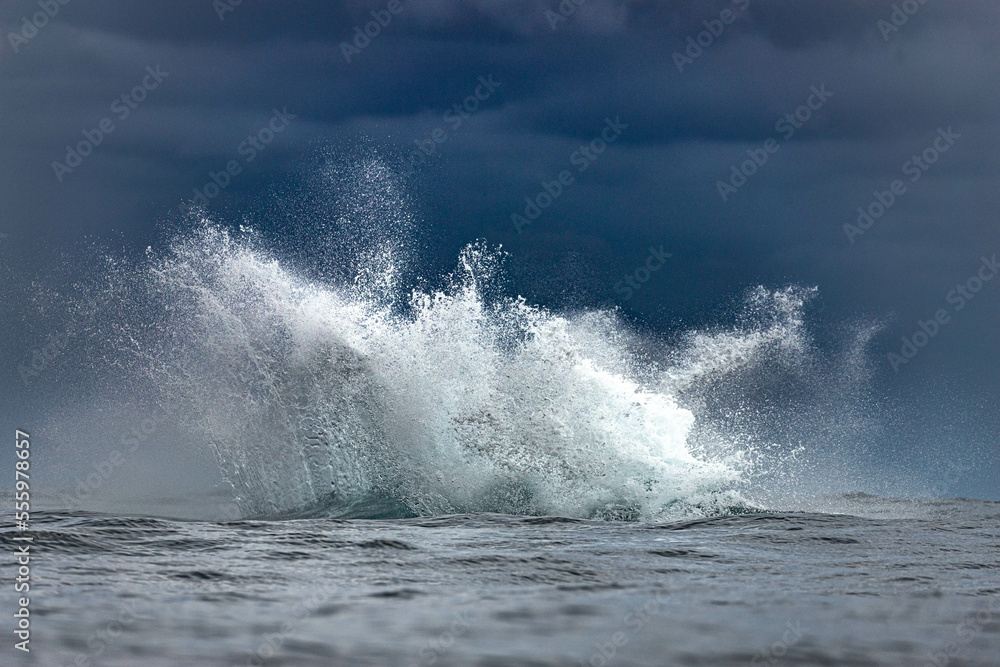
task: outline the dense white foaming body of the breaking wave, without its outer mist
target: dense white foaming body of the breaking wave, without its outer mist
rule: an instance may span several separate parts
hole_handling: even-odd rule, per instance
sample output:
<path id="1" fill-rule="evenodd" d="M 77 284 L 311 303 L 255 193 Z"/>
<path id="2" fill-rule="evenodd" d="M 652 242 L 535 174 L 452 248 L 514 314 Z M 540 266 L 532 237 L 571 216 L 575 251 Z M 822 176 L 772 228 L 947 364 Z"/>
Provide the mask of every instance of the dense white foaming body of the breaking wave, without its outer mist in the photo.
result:
<path id="1" fill-rule="evenodd" d="M 800 345 L 802 295 L 758 293 L 779 312 L 769 324 L 691 336 L 661 366 L 629 351 L 613 313 L 486 298 L 499 253 L 482 245 L 405 303 L 387 298 L 391 258 L 371 261 L 377 279 L 313 284 L 210 224 L 150 260 L 170 332 L 152 379 L 197 407 L 246 515 L 745 509 L 746 453 L 691 442 L 675 396 Z"/>

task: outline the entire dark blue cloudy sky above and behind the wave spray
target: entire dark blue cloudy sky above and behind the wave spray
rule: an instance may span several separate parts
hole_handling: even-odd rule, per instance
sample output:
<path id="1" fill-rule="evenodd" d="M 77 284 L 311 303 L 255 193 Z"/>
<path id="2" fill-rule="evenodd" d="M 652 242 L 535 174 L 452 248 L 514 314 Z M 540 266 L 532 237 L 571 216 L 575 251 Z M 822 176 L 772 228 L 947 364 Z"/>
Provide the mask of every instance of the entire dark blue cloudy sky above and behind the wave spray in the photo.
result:
<path id="1" fill-rule="evenodd" d="M 196 189 L 267 227 L 268 193 L 378 159 L 428 266 L 502 243 L 542 303 L 670 330 L 817 286 L 820 339 L 885 324 L 893 447 L 976 452 L 958 489 L 996 495 L 995 3 L 4 0 L 0 30 L 12 381 L 40 345 L 32 280 L 79 248 L 155 243 Z M 519 233 L 526 197 L 545 209 Z M 935 335 L 894 368 L 921 322 Z"/>

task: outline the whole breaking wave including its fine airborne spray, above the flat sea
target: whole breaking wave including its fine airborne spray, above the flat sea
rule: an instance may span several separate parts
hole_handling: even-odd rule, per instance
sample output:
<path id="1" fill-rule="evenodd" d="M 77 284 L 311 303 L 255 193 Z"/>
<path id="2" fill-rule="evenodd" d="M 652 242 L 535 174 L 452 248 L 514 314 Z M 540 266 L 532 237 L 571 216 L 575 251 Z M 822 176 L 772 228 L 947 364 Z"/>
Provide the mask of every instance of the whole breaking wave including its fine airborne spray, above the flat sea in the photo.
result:
<path id="1" fill-rule="evenodd" d="M 104 254 L 101 285 L 71 299 L 84 324 L 66 355 L 103 374 L 88 384 L 126 404 L 121 424 L 167 414 L 206 443 L 243 516 L 754 511 L 847 479 L 851 443 L 870 441 L 857 406 L 877 328 L 824 360 L 814 289 L 756 288 L 731 324 L 665 338 L 511 296 L 484 242 L 420 278 L 391 173 L 333 170 L 278 198 L 277 234 L 195 213 L 138 262 Z M 333 202 L 331 182 L 347 185 Z"/>

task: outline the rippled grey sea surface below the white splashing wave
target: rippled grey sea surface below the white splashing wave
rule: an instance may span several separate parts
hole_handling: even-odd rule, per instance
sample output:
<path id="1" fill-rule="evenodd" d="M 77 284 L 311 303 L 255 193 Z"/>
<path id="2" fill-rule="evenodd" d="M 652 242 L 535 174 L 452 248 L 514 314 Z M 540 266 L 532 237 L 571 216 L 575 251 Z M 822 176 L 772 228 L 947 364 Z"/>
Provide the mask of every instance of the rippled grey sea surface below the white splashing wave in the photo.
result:
<path id="1" fill-rule="evenodd" d="M 1000 664 L 1000 503 L 812 504 L 627 522 L 46 512 L 32 651 L 5 632 L 0 663 Z"/>

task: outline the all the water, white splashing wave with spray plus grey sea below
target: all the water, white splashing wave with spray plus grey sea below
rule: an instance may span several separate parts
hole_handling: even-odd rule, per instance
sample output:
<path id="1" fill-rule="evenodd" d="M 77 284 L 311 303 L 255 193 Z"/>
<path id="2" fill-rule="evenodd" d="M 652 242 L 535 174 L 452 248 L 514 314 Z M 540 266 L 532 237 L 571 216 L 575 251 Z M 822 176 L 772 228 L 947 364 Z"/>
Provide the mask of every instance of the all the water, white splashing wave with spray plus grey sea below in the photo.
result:
<path id="1" fill-rule="evenodd" d="M 877 327 L 825 355 L 815 290 L 758 288 L 657 337 L 389 223 L 202 219 L 60 297 L 96 389 L 32 434 L 31 664 L 1000 664 L 1000 505 L 843 494 L 905 479 Z"/>

